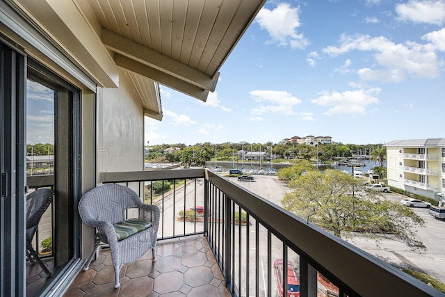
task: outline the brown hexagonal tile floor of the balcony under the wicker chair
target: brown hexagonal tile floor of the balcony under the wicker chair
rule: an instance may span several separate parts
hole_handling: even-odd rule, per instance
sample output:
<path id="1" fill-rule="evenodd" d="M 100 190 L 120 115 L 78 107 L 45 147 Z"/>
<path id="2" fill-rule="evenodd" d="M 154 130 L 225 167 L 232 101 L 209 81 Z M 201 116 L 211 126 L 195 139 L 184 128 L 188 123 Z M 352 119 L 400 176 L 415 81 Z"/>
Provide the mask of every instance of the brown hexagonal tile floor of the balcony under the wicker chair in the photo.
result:
<path id="1" fill-rule="evenodd" d="M 149 250 L 122 267 L 118 289 L 114 289 L 110 251 L 102 250 L 88 271 L 79 272 L 64 297 L 232 296 L 204 236 L 160 241 L 156 246 L 156 262 Z"/>

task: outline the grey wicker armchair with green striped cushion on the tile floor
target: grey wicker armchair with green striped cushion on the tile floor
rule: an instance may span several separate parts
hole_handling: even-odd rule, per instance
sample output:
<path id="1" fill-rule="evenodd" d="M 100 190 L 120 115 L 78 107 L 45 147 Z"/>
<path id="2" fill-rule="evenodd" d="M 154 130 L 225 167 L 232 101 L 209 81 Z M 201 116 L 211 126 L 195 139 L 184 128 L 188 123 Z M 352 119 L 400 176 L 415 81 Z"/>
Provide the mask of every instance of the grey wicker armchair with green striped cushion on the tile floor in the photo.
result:
<path id="1" fill-rule="evenodd" d="M 127 218 L 127 209 L 138 209 L 138 218 Z M 93 188 L 82 196 L 79 214 L 86 225 L 97 228 L 95 248 L 83 266 L 84 271 L 101 242 L 110 246 L 115 288 L 120 287 L 119 273 L 124 263 L 136 261 L 150 248 L 155 261 L 159 207 L 143 204 L 131 188 L 118 184 Z"/>

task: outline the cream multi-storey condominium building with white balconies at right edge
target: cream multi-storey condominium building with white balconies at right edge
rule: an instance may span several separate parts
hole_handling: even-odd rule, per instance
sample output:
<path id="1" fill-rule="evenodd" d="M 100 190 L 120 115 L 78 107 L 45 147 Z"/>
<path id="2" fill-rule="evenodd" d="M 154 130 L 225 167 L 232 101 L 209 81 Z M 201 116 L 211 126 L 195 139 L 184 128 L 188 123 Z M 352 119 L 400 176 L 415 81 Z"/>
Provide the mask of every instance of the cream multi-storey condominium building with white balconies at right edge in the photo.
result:
<path id="1" fill-rule="evenodd" d="M 391 141 L 387 148 L 388 184 L 437 200 L 445 188 L 445 138 Z"/>

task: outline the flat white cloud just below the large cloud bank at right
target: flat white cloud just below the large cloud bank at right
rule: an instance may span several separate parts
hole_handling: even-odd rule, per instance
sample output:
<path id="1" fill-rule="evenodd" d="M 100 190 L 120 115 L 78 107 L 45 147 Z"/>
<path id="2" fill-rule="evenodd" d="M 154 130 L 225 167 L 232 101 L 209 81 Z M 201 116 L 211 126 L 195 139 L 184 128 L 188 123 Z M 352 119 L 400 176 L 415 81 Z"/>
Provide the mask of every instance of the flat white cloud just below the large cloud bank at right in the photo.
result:
<path id="1" fill-rule="evenodd" d="M 364 114 L 367 112 L 367 106 L 378 104 L 375 95 L 380 94 L 380 88 L 371 88 L 369 90 L 353 90 L 338 92 L 323 92 L 321 97 L 313 99 L 312 103 L 319 106 L 332 106 L 325 115 L 341 114 Z"/>

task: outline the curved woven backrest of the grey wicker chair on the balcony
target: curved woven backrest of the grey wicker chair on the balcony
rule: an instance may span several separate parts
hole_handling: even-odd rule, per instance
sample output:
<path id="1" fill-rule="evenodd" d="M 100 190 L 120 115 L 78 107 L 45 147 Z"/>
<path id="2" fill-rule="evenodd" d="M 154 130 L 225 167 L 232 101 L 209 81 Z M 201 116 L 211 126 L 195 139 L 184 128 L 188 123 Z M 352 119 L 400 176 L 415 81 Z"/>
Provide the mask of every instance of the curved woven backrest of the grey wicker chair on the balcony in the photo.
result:
<path id="1" fill-rule="evenodd" d="M 127 186 L 104 184 L 83 194 L 79 214 L 83 222 L 103 220 L 118 223 L 125 218 L 125 210 L 142 204 L 139 196 Z"/>

